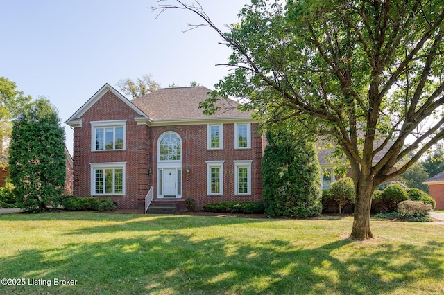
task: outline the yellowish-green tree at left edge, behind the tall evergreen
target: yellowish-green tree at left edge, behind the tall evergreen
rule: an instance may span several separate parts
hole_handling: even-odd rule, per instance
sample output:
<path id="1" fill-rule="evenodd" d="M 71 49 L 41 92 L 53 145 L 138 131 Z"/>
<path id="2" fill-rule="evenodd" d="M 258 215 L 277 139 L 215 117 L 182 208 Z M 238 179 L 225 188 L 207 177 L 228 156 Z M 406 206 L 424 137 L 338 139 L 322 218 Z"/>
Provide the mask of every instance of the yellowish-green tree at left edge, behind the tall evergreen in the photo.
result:
<path id="1" fill-rule="evenodd" d="M 16 88 L 15 82 L 0 77 L 0 166 L 3 165 L 3 160 L 8 158 L 12 130 L 10 120 L 32 105 L 31 96 L 24 96 L 23 91 Z"/>

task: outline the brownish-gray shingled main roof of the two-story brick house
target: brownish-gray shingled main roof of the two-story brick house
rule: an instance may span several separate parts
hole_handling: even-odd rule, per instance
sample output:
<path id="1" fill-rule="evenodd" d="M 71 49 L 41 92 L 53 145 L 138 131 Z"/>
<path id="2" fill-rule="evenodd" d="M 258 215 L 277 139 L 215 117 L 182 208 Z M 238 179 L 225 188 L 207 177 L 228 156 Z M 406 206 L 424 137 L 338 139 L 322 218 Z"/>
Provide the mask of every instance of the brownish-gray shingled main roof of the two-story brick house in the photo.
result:
<path id="1" fill-rule="evenodd" d="M 206 87 L 164 88 L 146 94 L 135 100 L 133 104 L 144 111 L 151 120 L 175 120 L 209 118 L 199 109 L 199 102 L 210 98 L 211 90 Z M 239 113 L 234 100 L 221 100 L 216 104 L 221 107 L 210 118 L 250 118 L 250 112 Z"/>

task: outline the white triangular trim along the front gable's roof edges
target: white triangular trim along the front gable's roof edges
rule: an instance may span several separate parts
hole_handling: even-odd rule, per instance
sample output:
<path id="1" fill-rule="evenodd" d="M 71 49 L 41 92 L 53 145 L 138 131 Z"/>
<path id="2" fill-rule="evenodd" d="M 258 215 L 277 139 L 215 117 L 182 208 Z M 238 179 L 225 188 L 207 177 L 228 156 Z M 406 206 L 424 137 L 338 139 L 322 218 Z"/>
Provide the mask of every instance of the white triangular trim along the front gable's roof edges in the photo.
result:
<path id="1" fill-rule="evenodd" d="M 80 109 L 78 109 L 74 115 L 72 115 L 66 122 L 65 124 L 72 126 L 72 127 L 81 127 L 81 123 L 79 125 L 79 118 L 81 118 L 83 116 L 83 114 L 85 114 L 85 112 L 92 107 L 99 99 L 102 98 L 103 95 L 105 95 L 105 93 L 107 93 L 108 91 L 111 91 L 115 96 L 117 96 L 118 98 L 120 98 L 123 102 L 126 103 L 126 105 L 128 105 L 128 107 L 130 107 L 131 109 L 133 109 L 133 111 L 135 111 L 139 116 L 143 117 L 143 118 L 148 118 L 148 116 L 146 116 L 146 114 L 141 111 L 138 107 L 136 107 L 135 105 L 133 105 L 133 103 L 130 102 L 130 100 L 128 100 L 128 98 L 126 98 L 125 96 L 123 96 L 119 91 L 117 91 L 116 89 L 114 89 L 110 84 L 106 83 L 105 85 L 103 85 L 103 87 L 101 89 L 99 89 L 99 91 L 97 91 L 94 96 L 92 96 L 92 98 L 89 98 L 89 100 L 87 100 L 87 102 L 85 102 L 85 104 L 80 107 Z M 81 121 L 80 121 L 81 122 Z"/>

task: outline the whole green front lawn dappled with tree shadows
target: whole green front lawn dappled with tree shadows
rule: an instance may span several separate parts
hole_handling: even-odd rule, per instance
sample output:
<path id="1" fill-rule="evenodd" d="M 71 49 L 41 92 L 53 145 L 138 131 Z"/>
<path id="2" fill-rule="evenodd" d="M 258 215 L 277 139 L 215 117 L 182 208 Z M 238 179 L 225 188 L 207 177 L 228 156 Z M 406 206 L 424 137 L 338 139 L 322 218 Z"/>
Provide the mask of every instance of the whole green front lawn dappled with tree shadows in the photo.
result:
<path id="1" fill-rule="evenodd" d="M 350 218 L 0 215 L 0 278 L 24 279 L 0 293 L 444 293 L 444 226 L 371 226 L 352 242 Z"/>

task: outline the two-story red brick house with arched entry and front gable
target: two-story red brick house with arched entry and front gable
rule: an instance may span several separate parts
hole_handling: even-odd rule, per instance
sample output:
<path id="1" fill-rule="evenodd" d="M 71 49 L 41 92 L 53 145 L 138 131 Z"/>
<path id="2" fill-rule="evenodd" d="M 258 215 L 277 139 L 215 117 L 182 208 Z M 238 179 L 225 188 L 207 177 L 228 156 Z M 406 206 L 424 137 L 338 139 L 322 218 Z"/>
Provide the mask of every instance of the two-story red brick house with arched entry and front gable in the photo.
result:
<path id="1" fill-rule="evenodd" d="M 101 87 L 65 122 L 74 128 L 74 195 L 119 208 L 143 208 L 151 187 L 157 201 L 191 198 L 197 208 L 262 200 L 259 124 L 231 100 L 205 116 L 198 105 L 208 92 L 159 89 L 130 101 Z"/>

